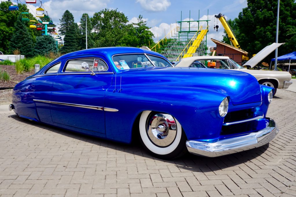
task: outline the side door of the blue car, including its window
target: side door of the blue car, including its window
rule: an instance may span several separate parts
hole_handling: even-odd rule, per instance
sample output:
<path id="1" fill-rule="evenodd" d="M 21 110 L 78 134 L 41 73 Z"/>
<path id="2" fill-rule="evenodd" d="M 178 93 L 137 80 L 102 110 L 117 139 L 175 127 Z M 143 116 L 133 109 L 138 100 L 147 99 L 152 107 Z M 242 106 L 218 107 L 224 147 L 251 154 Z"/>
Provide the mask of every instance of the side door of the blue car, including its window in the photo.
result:
<path id="1" fill-rule="evenodd" d="M 78 132 L 105 133 L 104 96 L 112 76 L 112 68 L 99 57 L 65 61 L 53 82 L 52 121 Z"/>

